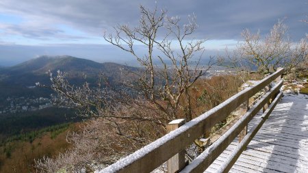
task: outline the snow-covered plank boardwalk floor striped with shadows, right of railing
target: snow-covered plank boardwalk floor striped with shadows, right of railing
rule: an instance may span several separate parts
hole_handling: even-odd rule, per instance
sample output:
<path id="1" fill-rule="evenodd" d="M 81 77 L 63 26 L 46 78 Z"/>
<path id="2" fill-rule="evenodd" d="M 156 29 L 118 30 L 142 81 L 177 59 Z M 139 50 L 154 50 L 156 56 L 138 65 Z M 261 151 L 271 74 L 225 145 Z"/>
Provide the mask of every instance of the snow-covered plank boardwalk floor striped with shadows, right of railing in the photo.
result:
<path id="1" fill-rule="evenodd" d="M 236 144 L 205 172 L 216 172 Z M 230 172 L 308 172 L 308 96 L 285 94 Z"/>

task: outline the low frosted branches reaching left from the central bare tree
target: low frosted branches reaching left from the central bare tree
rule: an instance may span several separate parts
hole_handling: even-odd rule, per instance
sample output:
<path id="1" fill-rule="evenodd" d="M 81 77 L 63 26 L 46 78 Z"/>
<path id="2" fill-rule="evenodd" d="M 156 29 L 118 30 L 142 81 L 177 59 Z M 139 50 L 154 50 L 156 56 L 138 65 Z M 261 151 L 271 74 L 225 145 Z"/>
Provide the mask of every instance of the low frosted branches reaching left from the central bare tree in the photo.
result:
<path id="1" fill-rule="evenodd" d="M 52 73 L 50 75 L 52 85 L 47 87 L 55 91 L 55 94 L 51 95 L 53 103 L 76 108 L 78 116 L 103 118 L 114 125 L 117 135 L 130 136 L 129 131 L 121 131 L 119 125 L 127 121 L 150 122 L 159 127 L 164 127 L 166 124 L 166 118 L 160 116 L 161 112 L 148 104 L 149 102 L 143 97 L 131 97 L 122 90 L 101 87 L 100 81 L 97 87 L 91 88 L 88 82 L 76 87 L 68 83 L 65 72 L 57 71 L 57 75 L 53 76 Z M 144 142 L 144 139 L 140 139 L 139 142 Z"/>

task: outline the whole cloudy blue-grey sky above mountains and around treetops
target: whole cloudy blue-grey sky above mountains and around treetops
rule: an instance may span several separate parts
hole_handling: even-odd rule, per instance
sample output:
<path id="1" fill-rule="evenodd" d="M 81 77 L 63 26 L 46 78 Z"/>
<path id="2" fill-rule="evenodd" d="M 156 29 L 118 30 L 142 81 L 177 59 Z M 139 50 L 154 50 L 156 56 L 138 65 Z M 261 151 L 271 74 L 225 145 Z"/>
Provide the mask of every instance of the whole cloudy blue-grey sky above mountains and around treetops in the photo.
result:
<path id="1" fill-rule="evenodd" d="M 0 66 L 40 55 L 72 55 L 97 62 L 133 63 L 133 57 L 105 42 L 112 27 L 138 25 L 139 6 L 166 9 L 185 22 L 195 14 L 195 39 L 207 39 L 205 56 L 234 47 L 243 29 L 267 34 L 283 20 L 294 42 L 308 33 L 307 0 L 1 0 Z M 141 49 L 141 48 L 140 48 Z"/>

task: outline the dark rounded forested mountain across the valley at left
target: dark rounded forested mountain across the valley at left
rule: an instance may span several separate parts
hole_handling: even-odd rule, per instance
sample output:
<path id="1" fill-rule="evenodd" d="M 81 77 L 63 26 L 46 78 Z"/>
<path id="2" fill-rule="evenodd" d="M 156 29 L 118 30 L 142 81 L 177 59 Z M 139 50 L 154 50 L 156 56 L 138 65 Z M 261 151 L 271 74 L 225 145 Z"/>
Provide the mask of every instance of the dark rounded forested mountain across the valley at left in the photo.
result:
<path id="1" fill-rule="evenodd" d="M 81 84 L 86 81 L 95 83 L 99 74 L 107 77 L 111 85 L 118 85 L 125 71 L 136 71 L 138 68 L 116 63 L 98 63 L 88 59 L 71 56 L 41 56 L 16 66 L 0 68 L 0 100 L 8 96 L 37 96 L 49 94 L 46 89 L 29 88 L 36 82 L 49 84 L 49 70 L 56 74 L 57 70 L 68 73 L 68 81 Z"/>

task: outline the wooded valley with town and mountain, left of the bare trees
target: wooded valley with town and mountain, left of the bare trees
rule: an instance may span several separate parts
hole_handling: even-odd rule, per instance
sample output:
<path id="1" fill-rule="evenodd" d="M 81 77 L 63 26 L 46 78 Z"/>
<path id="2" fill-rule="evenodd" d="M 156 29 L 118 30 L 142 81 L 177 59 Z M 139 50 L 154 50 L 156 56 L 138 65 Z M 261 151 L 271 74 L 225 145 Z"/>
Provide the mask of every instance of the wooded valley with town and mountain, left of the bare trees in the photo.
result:
<path id="1" fill-rule="evenodd" d="M 54 105 L 53 90 L 36 85 L 50 86 L 50 75 L 55 76 L 57 70 L 66 72 L 67 80 L 74 86 L 86 81 L 91 88 L 114 88 L 138 95 L 123 85 L 131 80 L 131 72 L 140 71 L 131 66 L 71 56 L 41 56 L 0 68 L 0 172 L 10 172 L 13 168 L 17 172 L 33 171 L 34 159 L 53 157 L 67 150 L 68 131 L 84 126 L 86 118 L 77 117 L 77 110 Z M 202 78 L 228 73 L 223 67 L 214 66 Z"/>

